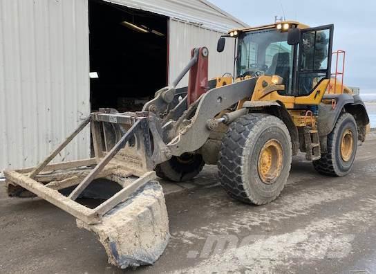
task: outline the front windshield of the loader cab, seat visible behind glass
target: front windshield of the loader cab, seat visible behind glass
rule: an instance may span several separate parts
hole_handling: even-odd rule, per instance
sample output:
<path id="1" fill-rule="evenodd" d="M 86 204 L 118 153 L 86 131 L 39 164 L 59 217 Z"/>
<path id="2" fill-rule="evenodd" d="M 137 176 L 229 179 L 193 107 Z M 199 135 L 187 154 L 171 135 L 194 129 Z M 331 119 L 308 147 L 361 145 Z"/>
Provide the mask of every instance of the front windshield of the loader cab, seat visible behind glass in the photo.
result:
<path id="1" fill-rule="evenodd" d="M 255 30 L 238 38 L 236 75 L 279 75 L 285 91 L 292 86 L 294 48 L 287 42 L 288 33 L 281 30 Z"/>

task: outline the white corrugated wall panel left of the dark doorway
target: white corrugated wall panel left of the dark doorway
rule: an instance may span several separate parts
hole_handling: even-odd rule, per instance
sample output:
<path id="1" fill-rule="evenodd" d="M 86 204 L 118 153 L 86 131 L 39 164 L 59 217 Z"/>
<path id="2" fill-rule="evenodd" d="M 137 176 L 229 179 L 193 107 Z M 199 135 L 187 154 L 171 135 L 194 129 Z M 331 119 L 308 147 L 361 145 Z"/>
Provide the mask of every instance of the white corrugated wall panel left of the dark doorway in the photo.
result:
<path id="1" fill-rule="evenodd" d="M 36 165 L 90 112 L 87 0 L 0 0 L 0 172 Z M 55 161 L 86 158 L 89 131 Z"/>

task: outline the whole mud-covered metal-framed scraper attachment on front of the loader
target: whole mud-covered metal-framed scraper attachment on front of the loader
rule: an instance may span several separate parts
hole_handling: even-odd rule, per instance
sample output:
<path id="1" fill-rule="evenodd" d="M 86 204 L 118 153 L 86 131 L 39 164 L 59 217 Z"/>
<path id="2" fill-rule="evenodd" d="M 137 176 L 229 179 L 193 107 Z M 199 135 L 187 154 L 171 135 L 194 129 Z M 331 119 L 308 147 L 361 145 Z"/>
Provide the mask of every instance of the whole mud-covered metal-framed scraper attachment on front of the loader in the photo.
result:
<path id="1" fill-rule="evenodd" d="M 50 164 L 89 123 L 95 157 Z M 31 192 L 73 215 L 79 227 L 99 237 L 111 264 L 153 264 L 167 245 L 169 227 L 162 188 L 155 181 L 149 132 L 147 113 L 92 113 L 37 167 L 4 171 L 8 193 Z M 122 189 L 111 197 L 95 194 L 108 199 L 88 208 L 76 199 L 88 197 L 85 192 L 94 179 L 114 181 Z M 71 192 L 66 196 L 61 190 Z"/>

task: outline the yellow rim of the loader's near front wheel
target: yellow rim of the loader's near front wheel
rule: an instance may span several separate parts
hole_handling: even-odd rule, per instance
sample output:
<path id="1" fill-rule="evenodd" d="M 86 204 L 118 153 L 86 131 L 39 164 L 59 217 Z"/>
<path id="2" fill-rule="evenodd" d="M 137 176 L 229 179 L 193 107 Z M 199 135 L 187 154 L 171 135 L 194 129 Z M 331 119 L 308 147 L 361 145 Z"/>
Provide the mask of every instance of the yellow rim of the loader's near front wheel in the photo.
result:
<path id="1" fill-rule="evenodd" d="M 263 183 L 274 183 L 283 166 L 282 146 L 277 140 L 268 140 L 259 155 L 259 176 Z"/>

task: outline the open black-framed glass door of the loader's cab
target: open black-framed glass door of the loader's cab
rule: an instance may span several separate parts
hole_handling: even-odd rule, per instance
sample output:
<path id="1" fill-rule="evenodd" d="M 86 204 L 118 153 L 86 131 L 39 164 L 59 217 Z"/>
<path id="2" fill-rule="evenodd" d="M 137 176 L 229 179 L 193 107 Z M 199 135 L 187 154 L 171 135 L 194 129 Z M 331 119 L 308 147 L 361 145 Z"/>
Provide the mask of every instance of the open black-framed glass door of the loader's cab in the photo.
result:
<path id="1" fill-rule="evenodd" d="M 306 96 L 324 79 L 330 79 L 334 25 L 301 30 L 295 80 L 297 96 Z"/>

